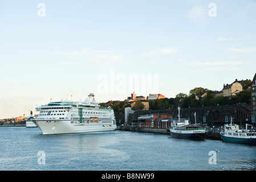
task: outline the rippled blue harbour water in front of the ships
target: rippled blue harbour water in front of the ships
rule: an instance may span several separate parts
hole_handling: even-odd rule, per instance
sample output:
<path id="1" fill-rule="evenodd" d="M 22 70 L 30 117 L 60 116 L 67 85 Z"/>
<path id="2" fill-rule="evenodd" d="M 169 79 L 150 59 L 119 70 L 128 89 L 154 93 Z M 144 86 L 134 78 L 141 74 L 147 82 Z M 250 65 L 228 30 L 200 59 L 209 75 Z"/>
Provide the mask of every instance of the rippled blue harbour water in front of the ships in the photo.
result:
<path id="1" fill-rule="evenodd" d="M 209 164 L 210 151 L 218 163 Z M 220 140 L 109 131 L 42 135 L 38 128 L 0 127 L 0 170 L 255 170 L 256 146 Z M 45 164 L 39 151 L 45 154 Z"/>

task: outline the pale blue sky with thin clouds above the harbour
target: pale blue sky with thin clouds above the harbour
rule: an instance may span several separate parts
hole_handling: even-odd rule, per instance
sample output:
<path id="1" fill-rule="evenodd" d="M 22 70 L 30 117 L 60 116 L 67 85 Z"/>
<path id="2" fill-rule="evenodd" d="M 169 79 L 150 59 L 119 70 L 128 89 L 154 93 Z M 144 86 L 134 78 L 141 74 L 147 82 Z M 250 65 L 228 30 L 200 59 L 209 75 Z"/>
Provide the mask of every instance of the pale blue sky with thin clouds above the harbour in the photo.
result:
<path id="1" fill-rule="evenodd" d="M 0 119 L 72 100 L 175 97 L 256 73 L 253 0 L 0 1 Z"/>

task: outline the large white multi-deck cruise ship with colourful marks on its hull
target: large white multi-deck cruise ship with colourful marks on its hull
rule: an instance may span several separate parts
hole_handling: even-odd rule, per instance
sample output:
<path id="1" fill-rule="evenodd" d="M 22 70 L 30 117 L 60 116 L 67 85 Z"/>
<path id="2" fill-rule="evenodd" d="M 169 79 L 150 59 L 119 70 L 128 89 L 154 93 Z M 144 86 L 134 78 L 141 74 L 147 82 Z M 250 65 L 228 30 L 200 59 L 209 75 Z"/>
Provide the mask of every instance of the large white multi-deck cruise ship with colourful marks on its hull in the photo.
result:
<path id="1" fill-rule="evenodd" d="M 71 94 L 68 93 L 64 101 L 49 102 L 35 109 L 40 113 L 31 121 L 43 134 L 92 133 L 116 129 L 113 109 L 100 107 L 93 93 L 85 101 L 71 101 Z"/>

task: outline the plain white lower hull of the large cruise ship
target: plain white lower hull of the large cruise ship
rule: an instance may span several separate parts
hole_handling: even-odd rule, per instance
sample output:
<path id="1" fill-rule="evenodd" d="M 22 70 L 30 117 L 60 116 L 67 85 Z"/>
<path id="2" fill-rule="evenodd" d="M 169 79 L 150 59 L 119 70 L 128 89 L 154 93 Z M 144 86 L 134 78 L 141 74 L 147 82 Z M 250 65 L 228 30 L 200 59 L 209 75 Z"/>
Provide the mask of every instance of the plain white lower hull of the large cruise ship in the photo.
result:
<path id="1" fill-rule="evenodd" d="M 47 134 L 70 134 L 70 133 L 92 133 L 99 131 L 111 131 L 116 129 L 116 123 L 113 121 L 104 123 L 79 123 L 71 120 L 52 120 L 52 121 L 33 121 L 36 126 Z"/>

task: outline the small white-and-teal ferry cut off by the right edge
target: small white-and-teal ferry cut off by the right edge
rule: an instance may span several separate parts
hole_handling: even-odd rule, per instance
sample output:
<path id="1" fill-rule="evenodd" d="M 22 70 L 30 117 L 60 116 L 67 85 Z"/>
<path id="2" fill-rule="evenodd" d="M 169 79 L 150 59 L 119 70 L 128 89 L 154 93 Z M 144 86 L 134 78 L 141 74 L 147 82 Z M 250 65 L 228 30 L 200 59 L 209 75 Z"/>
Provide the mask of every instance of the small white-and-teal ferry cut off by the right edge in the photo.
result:
<path id="1" fill-rule="evenodd" d="M 239 126 L 234 124 L 232 118 L 230 123 L 224 126 L 224 131 L 221 131 L 220 134 L 225 142 L 256 144 L 256 132 L 253 130 L 253 125 L 246 124 L 245 130 L 239 129 Z"/>

